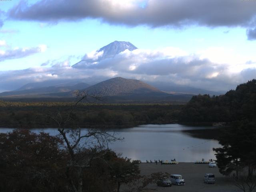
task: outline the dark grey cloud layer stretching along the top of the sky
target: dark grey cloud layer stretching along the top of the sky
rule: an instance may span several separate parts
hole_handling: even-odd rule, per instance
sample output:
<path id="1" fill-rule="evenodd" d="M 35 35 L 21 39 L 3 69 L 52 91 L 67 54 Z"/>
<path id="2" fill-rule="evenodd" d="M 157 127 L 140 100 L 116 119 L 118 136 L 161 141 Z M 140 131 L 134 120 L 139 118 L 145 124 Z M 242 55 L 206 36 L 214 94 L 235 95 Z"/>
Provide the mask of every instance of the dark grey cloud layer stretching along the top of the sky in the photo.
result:
<path id="1" fill-rule="evenodd" d="M 246 0 L 39 0 L 34 4 L 22 0 L 8 11 L 8 18 L 50 23 L 95 18 L 109 24 L 152 28 L 243 27 L 248 39 L 254 40 L 255 10 L 256 2 Z"/>

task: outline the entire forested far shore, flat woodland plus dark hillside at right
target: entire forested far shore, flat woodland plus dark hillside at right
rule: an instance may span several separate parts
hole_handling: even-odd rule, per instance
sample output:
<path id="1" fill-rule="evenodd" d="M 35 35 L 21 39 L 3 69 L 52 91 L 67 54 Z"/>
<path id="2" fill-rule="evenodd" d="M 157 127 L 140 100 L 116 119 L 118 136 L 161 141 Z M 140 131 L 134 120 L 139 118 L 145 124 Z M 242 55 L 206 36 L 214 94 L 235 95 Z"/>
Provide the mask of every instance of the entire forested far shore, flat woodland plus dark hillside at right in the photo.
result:
<path id="1" fill-rule="evenodd" d="M 67 114 L 74 102 L 9 102 L 0 100 L 0 126 L 56 127 L 45 115 Z M 193 96 L 181 104 L 79 103 L 73 113 L 81 127 L 132 127 L 140 124 L 212 123 L 255 120 L 256 80 L 240 84 L 224 95 Z"/>

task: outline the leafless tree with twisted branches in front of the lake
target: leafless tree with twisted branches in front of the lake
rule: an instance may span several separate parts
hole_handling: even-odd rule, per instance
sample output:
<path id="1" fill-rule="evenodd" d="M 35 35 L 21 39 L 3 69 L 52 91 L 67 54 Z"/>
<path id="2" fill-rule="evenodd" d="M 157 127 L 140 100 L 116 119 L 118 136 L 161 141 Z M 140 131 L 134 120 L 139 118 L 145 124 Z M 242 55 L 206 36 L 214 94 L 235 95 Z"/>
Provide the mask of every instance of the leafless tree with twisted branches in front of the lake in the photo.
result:
<path id="1" fill-rule="evenodd" d="M 62 117 L 60 110 L 56 116 L 47 115 L 58 125 L 58 132 L 63 138 L 68 150 L 68 164 L 66 166 L 66 176 L 70 184 L 70 190 L 73 192 L 82 192 L 83 186 L 83 170 L 90 168 L 94 159 L 101 158 L 98 156 L 99 151 L 108 149 L 108 143 L 121 140 L 115 136 L 115 133 L 109 133 L 100 129 L 81 130 L 79 126 L 69 127 L 70 122 L 74 121 L 74 111 L 82 100 L 93 98 L 99 100 L 99 96 L 90 95 L 87 92 L 76 92 L 78 100 L 72 106 L 66 117 Z M 104 162 L 104 159 L 102 159 Z M 105 162 L 107 164 L 107 162 Z"/>

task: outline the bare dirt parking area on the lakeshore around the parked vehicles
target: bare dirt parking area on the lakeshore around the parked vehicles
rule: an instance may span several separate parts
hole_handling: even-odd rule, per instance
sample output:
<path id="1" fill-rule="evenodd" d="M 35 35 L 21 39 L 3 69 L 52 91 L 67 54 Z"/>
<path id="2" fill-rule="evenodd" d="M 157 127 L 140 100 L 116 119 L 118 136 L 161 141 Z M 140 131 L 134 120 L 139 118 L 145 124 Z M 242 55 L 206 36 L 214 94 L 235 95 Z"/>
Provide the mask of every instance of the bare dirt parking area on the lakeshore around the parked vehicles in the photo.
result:
<path id="1" fill-rule="evenodd" d="M 146 186 L 144 192 L 240 192 L 234 186 L 232 177 L 226 177 L 219 173 L 218 168 L 209 168 L 208 164 L 179 163 L 177 165 L 161 165 L 155 163 L 141 163 L 142 175 L 154 172 L 168 172 L 169 174 L 181 174 L 185 179 L 184 186 L 172 185 L 172 187 L 160 187 L 156 184 Z M 204 174 L 215 175 L 215 184 L 204 183 Z"/>

